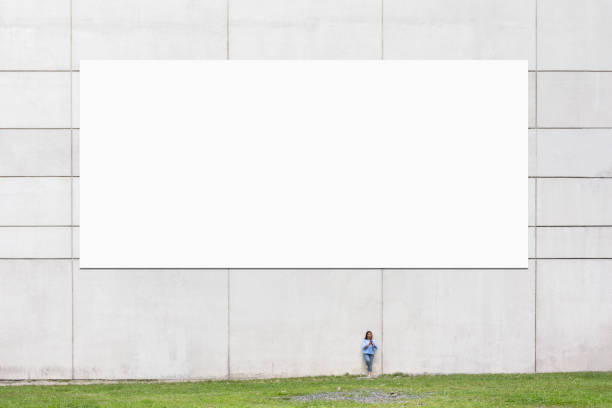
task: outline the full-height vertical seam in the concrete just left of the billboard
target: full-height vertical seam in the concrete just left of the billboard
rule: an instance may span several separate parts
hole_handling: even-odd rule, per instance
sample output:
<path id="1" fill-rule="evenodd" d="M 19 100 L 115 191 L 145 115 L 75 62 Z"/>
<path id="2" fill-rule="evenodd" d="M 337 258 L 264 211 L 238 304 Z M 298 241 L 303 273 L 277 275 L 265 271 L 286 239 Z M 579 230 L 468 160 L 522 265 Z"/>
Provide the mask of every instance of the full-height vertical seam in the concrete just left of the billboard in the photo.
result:
<path id="1" fill-rule="evenodd" d="M 70 377 L 74 379 L 74 152 L 72 111 L 72 0 L 70 0 Z"/>

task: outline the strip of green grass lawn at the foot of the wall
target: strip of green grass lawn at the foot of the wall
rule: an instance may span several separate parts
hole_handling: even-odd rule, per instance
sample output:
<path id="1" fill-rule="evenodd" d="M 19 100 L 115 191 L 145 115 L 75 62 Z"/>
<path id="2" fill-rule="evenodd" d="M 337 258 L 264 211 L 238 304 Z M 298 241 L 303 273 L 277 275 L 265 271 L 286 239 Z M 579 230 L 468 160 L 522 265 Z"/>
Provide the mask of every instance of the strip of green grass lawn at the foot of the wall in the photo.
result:
<path id="1" fill-rule="evenodd" d="M 294 396 L 378 390 L 408 399 L 297 401 Z M 0 387 L 0 407 L 612 407 L 612 373 L 385 375 L 249 381 Z"/>

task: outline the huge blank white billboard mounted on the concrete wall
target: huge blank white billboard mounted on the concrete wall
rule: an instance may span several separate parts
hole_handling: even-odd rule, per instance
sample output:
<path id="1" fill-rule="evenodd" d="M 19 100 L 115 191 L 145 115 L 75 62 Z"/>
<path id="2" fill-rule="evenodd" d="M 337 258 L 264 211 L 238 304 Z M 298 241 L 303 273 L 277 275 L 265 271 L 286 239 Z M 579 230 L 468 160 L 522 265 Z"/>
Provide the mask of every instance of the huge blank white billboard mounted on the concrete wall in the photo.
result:
<path id="1" fill-rule="evenodd" d="M 526 268 L 526 61 L 82 61 L 82 268 Z"/>

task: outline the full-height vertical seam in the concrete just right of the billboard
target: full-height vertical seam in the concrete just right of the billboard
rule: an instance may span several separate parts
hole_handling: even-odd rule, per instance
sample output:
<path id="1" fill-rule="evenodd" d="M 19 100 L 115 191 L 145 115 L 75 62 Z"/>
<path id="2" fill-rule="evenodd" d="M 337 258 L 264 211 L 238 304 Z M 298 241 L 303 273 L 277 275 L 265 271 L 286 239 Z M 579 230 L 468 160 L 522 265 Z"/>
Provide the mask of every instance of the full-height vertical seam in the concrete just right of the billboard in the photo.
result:
<path id="1" fill-rule="evenodd" d="M 538 372 L 538 2 L 535 0 L 535 186 L 533 205 L 535 207 L 534 214 L 534 266 L 533 266 L 533 371 Z"/>

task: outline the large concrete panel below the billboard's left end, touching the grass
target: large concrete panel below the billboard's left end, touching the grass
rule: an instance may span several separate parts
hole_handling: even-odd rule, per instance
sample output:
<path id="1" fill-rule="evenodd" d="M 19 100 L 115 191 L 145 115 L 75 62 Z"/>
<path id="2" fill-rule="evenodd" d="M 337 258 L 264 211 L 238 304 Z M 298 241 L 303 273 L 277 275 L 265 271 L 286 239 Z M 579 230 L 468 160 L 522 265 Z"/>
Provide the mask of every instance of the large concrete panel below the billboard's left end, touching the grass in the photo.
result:
<path id="1" fill-rule="evenodd" d="M 227 376 L 226 270 L 74 276 L 76 378 Z"/>

